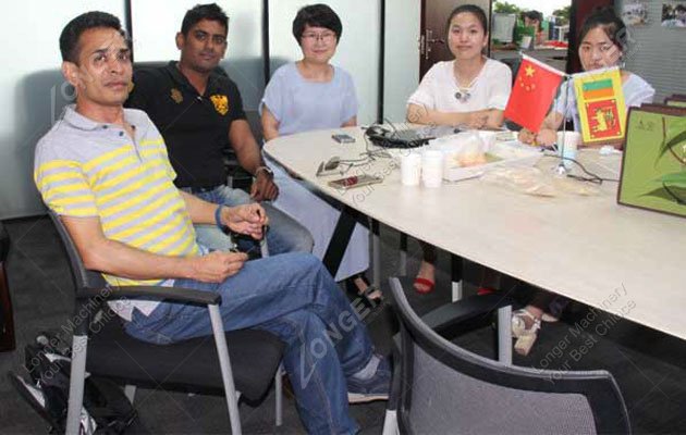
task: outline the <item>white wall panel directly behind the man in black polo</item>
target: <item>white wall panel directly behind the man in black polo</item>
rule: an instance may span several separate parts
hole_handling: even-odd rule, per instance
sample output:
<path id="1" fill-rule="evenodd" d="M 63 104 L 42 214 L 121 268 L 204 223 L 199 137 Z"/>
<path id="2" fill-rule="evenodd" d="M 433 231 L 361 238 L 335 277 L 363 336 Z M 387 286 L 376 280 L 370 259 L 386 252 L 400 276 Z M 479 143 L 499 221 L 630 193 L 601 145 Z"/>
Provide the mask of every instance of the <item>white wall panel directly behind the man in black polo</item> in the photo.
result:
<path id="1" fill-rule="evenodd" d="M 179 60 L 174 42 L 186 11 L 199 0 L 133 0 L 132 20 L 136 62 Z M 216 1 L 229 15 L 225 60 L 247 110 L 256 110 L 265 90 L 262 73 L 262 2 Z"/>

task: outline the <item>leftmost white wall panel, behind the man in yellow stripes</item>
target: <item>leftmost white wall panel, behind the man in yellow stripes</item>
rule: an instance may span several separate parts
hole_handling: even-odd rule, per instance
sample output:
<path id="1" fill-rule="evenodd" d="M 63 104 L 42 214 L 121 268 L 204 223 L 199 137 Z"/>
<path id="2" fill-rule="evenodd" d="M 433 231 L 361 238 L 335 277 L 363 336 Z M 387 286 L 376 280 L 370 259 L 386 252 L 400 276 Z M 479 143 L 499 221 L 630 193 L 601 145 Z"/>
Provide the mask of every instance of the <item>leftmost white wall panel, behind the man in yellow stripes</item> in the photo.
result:
<path id="1" fill-rule="evenodd" d="M 0 27 L 0 219 L 44 212 L 33 183 L 34 149 L 70 95 L 59 37 L 76 15 L 100 10 L 123 18 L 123 0 L 3 3 Z M 122 21 L 122 24 L 123 21 Z"/>

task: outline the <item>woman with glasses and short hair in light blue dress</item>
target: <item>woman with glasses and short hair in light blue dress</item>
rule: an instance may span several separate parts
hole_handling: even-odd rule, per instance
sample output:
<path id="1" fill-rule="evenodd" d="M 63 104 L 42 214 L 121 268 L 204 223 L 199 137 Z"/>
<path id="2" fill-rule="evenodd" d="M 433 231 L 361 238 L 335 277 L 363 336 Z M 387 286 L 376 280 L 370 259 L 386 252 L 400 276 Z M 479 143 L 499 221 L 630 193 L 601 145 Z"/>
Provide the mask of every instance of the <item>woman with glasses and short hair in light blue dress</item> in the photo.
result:
<path id="1" fill-rule="evenodd" d="M 293 21 L 293 36 L 303 58 L 277 70 L 260 103 L 265 140 L 281 135 L 348 127 L 357 124 L 357 97 L 350 74 L 330 63 L 343 26 L 326 4 L 301 9 Z M 273 164 L 280 195 L 274 206 L 305 225 L 315 239 L 314 253 L 323 258 L 340 215 L 340 206 L 326 199 Z M 357 224 L 343 256 L 335 279 L 375 306 L 381 298 L 369 286 L 364 272 L 369 268 L 368 231 Z"/>

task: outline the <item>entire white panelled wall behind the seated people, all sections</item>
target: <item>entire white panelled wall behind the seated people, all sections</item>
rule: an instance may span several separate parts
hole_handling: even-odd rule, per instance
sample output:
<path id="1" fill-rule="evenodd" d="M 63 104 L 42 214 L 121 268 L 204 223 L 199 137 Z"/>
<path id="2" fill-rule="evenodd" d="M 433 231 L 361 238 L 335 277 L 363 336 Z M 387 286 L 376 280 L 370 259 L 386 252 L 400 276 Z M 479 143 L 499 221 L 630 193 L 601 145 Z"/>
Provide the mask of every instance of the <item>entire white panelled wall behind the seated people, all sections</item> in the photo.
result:
<path id="1" fill-rule="evenodd" d="M 376 121 L 379 90 L 379 0 L 329 0 L 341 16 L 343 36 L 332 62 L 347 70 L 357 87 L 358 121 Z M 133 0 L 135 60 L 168 61 L 179 58 L 174 35 L 186 10 L 197 0 Z M 301 58 L 291 35 L 297 10 L 311 1 L 270 2 L 271 71 Z M 238 84 L 247 110 L 256 110 L 264 92 L 262 2 L 218 1 L 229 14 L 229 49 L 222 65 Z M 113 13 L 124 23 L 123 0 L 70 0 L 48 8 L 45 0 L 25 0 L 2 14 L 4 35 L 20 44 L 3 44 L 7 60 L 0 70 L 0 219 L 41 214 L 44 207 L 33 184 L 33 157 L 37 140 L 51 127 L 62 107 L 72 100 L 60 73 L 59 35 L 74 16 L 91 10 Z M 39 26 L 27 26 L 32 16 Z M 417 38 L 419 2 L 387 1 L 385 116 L 404 119 L 405 101 L 419 82 Z"/>

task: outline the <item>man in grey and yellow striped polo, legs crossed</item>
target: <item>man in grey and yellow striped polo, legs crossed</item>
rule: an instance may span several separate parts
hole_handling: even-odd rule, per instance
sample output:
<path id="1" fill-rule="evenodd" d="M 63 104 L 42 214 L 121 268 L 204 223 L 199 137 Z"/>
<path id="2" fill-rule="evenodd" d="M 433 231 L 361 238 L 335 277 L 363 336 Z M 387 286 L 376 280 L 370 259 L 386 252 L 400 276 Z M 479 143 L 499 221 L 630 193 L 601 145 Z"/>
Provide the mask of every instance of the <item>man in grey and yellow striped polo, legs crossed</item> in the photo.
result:
<path id="1" fill-rule="evenodd" d="M 286 344 L 284 365 L 306 430 L 355 433 L 348 399 L 388 398 L 390 368 L 331 275 L 308 253 L 246 262 L 244 253 L 207 252 L 194 223 L 217 222 L 259 239 L 265 210 L 217 207 L 174 187 L 160 133 L 145 112 L 122 107 L 132 65 L 117 17 L 77 16 L 60 49 L 76 104 L 38 142 L 35 181 L 86 268 L 117 285 L 219 293 L 226 330 L 262 328 Z M 196 306 L 134 299 L 113 309 L 142 340 L 211 334 L 207 311 Z M 335 343 L 327 328 L 340 332 Z"/>

